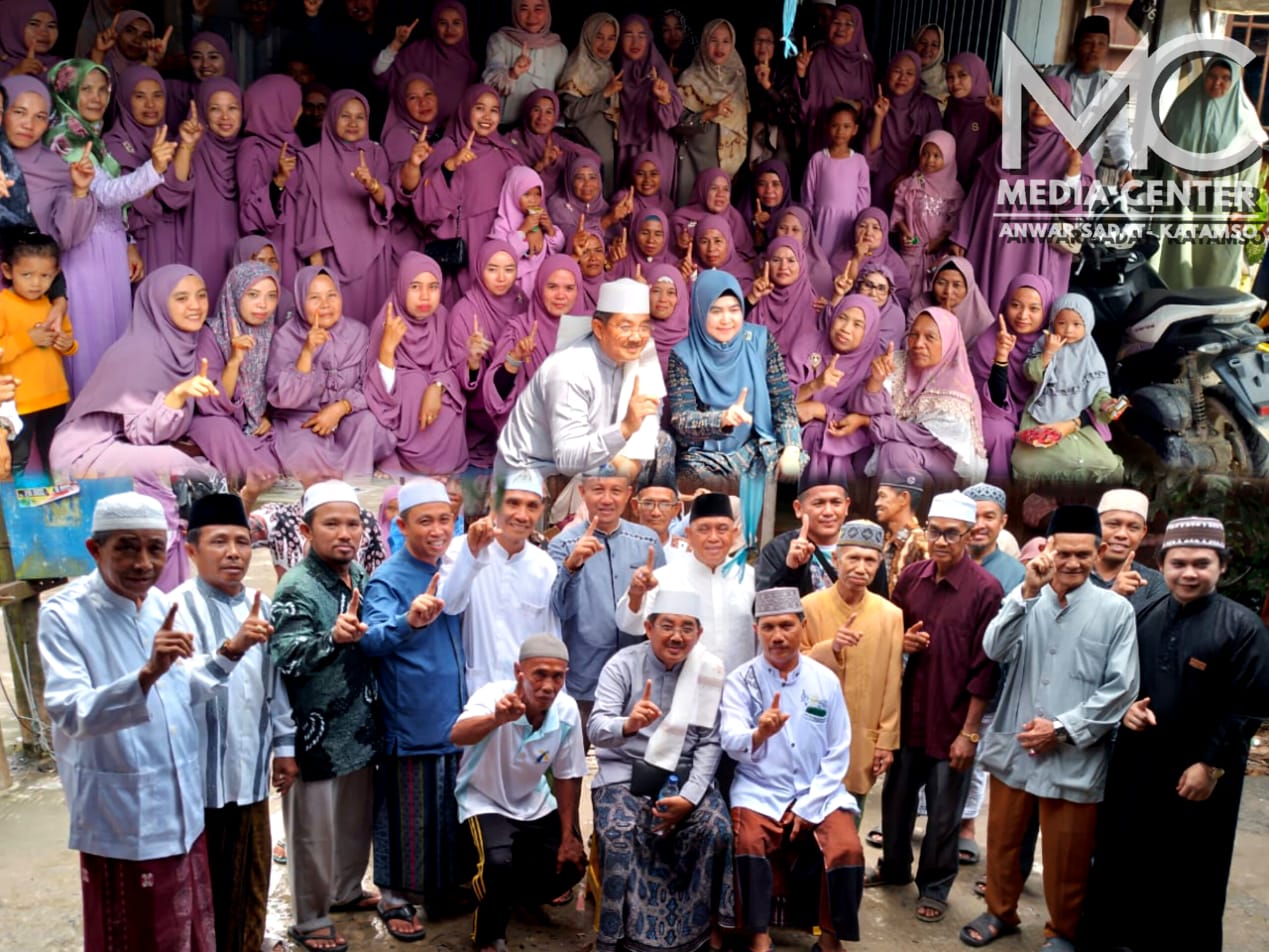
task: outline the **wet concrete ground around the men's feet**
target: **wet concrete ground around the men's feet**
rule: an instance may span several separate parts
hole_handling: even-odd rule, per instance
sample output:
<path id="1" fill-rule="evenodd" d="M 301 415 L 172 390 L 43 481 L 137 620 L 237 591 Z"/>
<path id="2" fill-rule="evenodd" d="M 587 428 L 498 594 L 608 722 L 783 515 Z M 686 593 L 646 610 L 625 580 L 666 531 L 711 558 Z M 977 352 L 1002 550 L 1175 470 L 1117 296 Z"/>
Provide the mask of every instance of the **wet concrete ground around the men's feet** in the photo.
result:
<path id="1" fill-rule="evenodd" d="M 374 509 L 382 484 L 369 486 L 365 493 L 367 508 Z M 273 498 L 274 494 L 270 494 Z M 280 494 L 279 494 L 280 495 Z M 250 584 L 273 590 L 274 571 L 268 551 L 255 550 Z M 13 680 L 8 659 L 0 652 L 0 683 L 13 697 Z M 61 786 L 49 764 L 25 760 L 15 753 L 18 725 L 8 702 L 0 697 L 0 727 L 8 741 L 10 763 L 14 768 L 14 786 L 0 791 L 0 948 L 27 952 L 69 952 L 82 947 L 80 929 L 80 877 L 77 856 L 66 849 L 67 817 Z M 871 809 L 865 814 L 865 828 L 877 820 L 879 800 L 869 797 Z M 275 836 L 282 836 L 280 801 L 270 801 Z M 582 824 L 589 833 L 589 797 L 582 801 Z M 920 828 L 919 828 L 920 829 Z M 978 842 L 985 840 L 986 807 L 980 820 Z M 868 862 L 876 862 L 878 850 L 865 847 Z M 1184 866 L 1184 848 L 1178 867 Z M 1043 939 L 1044 904 L 1041 891 L 1039 863 L 1023 895 L 1020 935 L 1000 939 L 994 948 L 1038 948 Z M 857 948 L 862 952 L 881 952 L 921 946 L 929 952 L 962 949 L 957 932 L 970 919 L 983 911 L 982 900 L 972 890 L 980 867 L 962 867 L 952 891 L 947 918 L 938 924 L 920 923 L 914 915 L 916 891 L 914 887 L 868 890 L 864 894 L 862 928 L 864 941 Z M 1175 875 L 1167 871 L 1166 875 Z M 1202 875 L 1202 871 L 1192 871 Z M 1184 910 L 1159 910 L 1173 914 Z M 287 872 L 284 866 L 273 866 L 269 895 L 269 929 L 286 933 L 291 922 Z M 340 932 L 350 947 L 391 948 L 397 943 L 387 935 L 382 923 L 373 914 L 344 915 L 336 919 Z M 544 909 L 541 923 L 513 920 L 509 930 L 510 952 L 584 952 L 594 943 L 594 908 L 586 905 L 562 909 Z M 1235 848 L 1233 871 L 1230 877 L 1228 902 L 1225 919 L 1225 948 L 1227 952 L 1261 952 L 1269 937 L 1269 777 L 1249 777 L 1242 796 L 1239 820 L 1239 838 Z M 777 944 L 782 952 L 802 952 L 813 942 L 799 932 L 777 932 Z M 293 946 L 293 948 L 297 948 Z M 428 925 L 428 938 L 410 948 L 437 949 L 438 952 L 467 952 L 471 948 L 470 919 L 456 916 Z"/>

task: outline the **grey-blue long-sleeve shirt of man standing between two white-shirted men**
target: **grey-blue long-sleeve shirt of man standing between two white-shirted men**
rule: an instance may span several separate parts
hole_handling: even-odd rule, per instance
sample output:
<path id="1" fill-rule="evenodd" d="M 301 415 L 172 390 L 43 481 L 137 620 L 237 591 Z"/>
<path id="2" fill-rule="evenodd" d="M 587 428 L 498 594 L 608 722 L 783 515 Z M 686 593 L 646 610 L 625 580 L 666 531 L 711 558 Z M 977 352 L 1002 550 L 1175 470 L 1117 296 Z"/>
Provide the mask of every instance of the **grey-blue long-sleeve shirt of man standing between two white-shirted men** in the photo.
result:
<path id="1" fill-rule="evenodd" d="M 576 701 L 594 701 L 599 671 L 608 659 L 619 647 L 642 638 L 623 635 L 617 627 L 617 603 L 629 588 L 634 570 L 647 564 L 648 546 L 656 551 L 655 566 L 665 565 L 656 533 L 622 519 L 612 534 L 595 529 L 595 538 L 604 547 L 580 570 L 569 571 L 563 560 L 586 526 L 582 519 L 574 520 L 547 547 L 560 570 L 551 588 L 551 608 L 569 646 L 569 693 Z"/>

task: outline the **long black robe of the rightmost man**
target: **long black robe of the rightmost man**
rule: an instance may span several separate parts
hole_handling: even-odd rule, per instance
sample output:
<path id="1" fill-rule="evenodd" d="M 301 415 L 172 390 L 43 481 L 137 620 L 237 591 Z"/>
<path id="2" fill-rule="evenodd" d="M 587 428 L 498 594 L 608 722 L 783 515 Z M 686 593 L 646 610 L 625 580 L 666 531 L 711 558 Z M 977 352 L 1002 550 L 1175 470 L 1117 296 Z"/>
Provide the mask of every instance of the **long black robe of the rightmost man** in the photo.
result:
<path id="1" fill-rule="evenodd" d="M 1159 724 L 1119 729 L 1085 906 L 1088 948 L 1221 948 L 1242 777 L 1269 716 L 1269 632 L 1223 595 L 1171 594 L 1137 613 L 1141 693 Z M 1225 769 L 1212 796 L 1183 800 L 1188 767 Z M 1081 944 L 1081 948 L 1084 946 Z"/>

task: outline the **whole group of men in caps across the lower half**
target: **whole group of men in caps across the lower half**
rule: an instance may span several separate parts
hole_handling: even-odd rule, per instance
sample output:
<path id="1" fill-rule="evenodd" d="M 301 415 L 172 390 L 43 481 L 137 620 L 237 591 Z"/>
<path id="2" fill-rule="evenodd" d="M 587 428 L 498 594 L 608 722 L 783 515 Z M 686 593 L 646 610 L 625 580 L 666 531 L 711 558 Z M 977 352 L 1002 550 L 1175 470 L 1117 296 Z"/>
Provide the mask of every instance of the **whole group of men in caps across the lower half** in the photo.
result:
<path id="1" fill-rule="evenodd" d="M 260 948 L 272 782 L 306 949 L 349 947 L 332 914 L 412 942 L 475 906 L 475 948 L 497 952 L 514 909 L 584 877 L 596 948 L 768 952 L 777 925 L 836 949 L 869 887 L 915 883 L 916 918 L 944 918 L 989 784 L 966 944 L 1019 929 L 1043 834 L 1043 948 L 1220 948 L 1269 715 L 1269 631 L 1216 590 L 1220 522 L 1169 522 L 1160 574 L 1136 560 L 1152 520 L 1134 490 L 1060 506 L 1020 560 L 997 486 L 925 506 L 914 475 L 887 476 L 872 522 L 806 481 L 801 528 L 750 567 L 728 559 L 725 495 L 636 496 L 612 467 L 581 493 L 591 518 L 543 551 L 534 471 L 500 477 L 461 533 L 445 486 L 411 480 L 400 548 L 369 574 L 357 490 L 316 482 L 272 599 L 244 581 L 240 496 L 194 504 L 197 578 L 171 593 L 162 508 L 99 501 L 96 570 L 39 627 L 85 947 Z M 1202 877 L 1170 872 L 1159 830 L 1180 828 Z"/>

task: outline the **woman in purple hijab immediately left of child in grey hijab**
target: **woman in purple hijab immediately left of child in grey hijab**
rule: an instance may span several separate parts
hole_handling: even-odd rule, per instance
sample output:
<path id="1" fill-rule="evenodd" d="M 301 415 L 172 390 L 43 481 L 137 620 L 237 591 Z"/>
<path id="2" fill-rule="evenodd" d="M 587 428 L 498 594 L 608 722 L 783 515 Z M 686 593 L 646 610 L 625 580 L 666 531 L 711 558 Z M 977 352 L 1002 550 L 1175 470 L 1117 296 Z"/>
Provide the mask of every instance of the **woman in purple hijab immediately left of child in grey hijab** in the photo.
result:
<path id="1" fill-rule="evenodd" d="M 1019 274 L 1009 282 L 999 314 L 1005 326 L 983 334 L 970 348 L 970 371 L 982 401 L 982 442 L 987 480 L 1000 485 L 1011 475 L 1010 453 L 1023 409 L 1036 392 L 1024 364 L 1048 325 L 1053 286 L 1043 274 Z M 997 319 L 999 320 L 999 319 Z"/>

